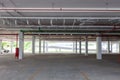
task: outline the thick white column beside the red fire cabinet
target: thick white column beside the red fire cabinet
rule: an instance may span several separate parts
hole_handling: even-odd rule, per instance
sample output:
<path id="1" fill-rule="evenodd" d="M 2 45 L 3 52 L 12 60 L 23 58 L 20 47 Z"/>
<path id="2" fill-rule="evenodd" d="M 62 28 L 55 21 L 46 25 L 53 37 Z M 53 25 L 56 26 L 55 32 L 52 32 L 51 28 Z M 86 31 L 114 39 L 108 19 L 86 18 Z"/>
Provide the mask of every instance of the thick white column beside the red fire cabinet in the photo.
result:
<path id="1" fill-rule="evenodd" d="M 23 59 L 24 52 L 24 33 L 19 33 L 19 59 Z"/>

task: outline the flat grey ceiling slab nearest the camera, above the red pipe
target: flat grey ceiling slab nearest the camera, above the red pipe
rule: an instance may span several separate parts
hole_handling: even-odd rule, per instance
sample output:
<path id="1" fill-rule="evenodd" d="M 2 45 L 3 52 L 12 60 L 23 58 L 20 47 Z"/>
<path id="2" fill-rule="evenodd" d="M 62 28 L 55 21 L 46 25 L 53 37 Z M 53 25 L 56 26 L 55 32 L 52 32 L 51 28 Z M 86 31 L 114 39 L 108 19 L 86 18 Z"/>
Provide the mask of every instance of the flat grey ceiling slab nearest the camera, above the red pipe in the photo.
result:
<path id="1" fill-rule="evenodd" d="M 1 0 L 6 7 L 119 8 L 120 0 Z"/>

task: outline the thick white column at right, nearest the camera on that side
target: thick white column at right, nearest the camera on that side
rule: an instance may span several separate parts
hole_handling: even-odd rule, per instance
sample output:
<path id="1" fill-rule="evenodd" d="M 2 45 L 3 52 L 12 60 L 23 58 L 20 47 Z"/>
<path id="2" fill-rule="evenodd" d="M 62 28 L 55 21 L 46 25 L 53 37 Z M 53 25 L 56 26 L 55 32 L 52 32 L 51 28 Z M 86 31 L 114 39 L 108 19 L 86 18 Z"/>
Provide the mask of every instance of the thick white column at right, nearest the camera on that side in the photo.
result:
<path id="1" fill-rule="evenodd" d="M 97 56 L 96 56 L 96 58 L 97 58 L 98 60 L 101 60 L 101 59 L 102 59 L 101 37 L 97 37 L 97 38 L 96 38 L 96 43 L 97 43 L 97 44 L 96 44 L 96 45 L 97 45 L 97 46 L 96 46 L 96 47 L 97 47 L 97 48 L 96 48 L 96 49 L 97 49 L 97 54 L 96 54 Z"/>

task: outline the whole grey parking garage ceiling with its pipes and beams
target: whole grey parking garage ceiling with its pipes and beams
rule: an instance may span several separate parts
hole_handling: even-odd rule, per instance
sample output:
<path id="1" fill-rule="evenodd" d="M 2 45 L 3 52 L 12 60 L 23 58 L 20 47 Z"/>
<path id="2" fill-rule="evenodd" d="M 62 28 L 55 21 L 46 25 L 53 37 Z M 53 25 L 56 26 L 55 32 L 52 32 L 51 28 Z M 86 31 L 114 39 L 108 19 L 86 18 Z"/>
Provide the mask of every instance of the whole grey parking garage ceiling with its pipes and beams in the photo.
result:
<path id="1" fill-rule="evenodd" d="M 103 28 L 103 32 L 109 33 L 113 31 L 118 33 L 120 31 L 120 0 L 1 0 L 0 8 L 51 8 L 51 10 L 52 8 L 59 8 L 60 10 L 63 8 L 79 8 L 79 10 L 90 9 L 88 12 L 73 12 L 74 10 L 68 12 L 0 10 L 0 34 L 18 34 L 19 30 L 36 30 L 39 27 L 52 30 L 53 28 L 51 27 L 59 29 L 61 26 L 63 30 L 69 30 L 70 27 L 70 29 L 75 28 L 77 31 L 81 31 L 85 26 L 86 32 L 87 30 L 99 30 L 100 27 L 108 26 L 106 31 L 104 31 L 105 28 Z M 32 17 L 32 19 L 29 19 L 29 17 Z M 86 28 L 86 26 L 92 26 L 94 28 Z M 98 31 L 98 33 L 99 32 L 100 31 Z M 48 33 L 48 35 L 50 34 Z M 4 36 L 1 37 L 1 39 L 3 38 Z M 118 37 L 116 39 L 118 39 Z"/>

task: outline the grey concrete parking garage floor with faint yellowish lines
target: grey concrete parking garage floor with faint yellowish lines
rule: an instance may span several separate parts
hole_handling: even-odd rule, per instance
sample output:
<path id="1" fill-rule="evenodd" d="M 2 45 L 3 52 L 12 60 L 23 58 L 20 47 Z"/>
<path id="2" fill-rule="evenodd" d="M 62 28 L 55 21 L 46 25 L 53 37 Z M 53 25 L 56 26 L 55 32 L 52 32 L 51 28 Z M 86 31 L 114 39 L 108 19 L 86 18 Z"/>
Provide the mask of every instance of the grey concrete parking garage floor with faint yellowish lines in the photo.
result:
<path id="1" fill-rule="evenodd" d="M 120 80 L 118 55 L 0 55 L 0 80 Z"/>

